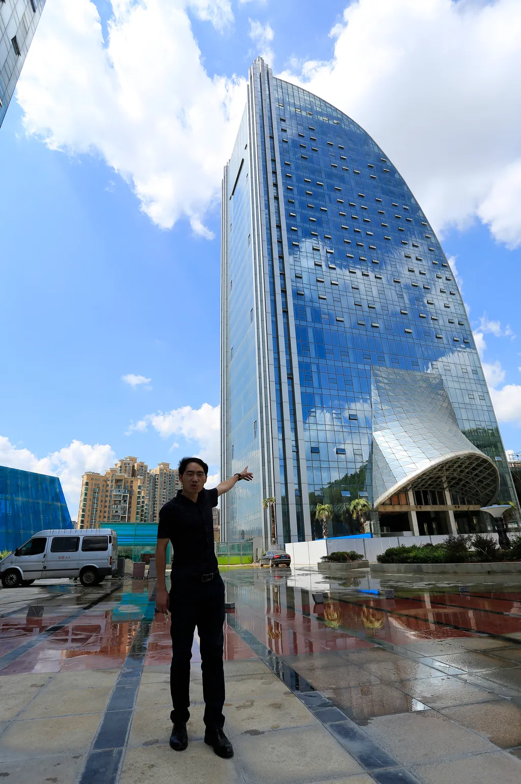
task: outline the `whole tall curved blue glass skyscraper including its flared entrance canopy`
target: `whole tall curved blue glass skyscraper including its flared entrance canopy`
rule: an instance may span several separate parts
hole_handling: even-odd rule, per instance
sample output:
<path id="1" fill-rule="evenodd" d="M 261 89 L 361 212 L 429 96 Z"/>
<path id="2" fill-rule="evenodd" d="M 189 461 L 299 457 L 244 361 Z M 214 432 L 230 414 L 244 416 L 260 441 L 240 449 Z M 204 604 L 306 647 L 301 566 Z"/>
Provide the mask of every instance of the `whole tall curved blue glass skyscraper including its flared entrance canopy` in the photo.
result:
<path id="1" fill-rule="evenodd" d="M 249 71 L 223 179 L 221 465 L 228 540 L 487 528 L 516 503 L 465 307 L 396 167 L 331 104 Z"/>

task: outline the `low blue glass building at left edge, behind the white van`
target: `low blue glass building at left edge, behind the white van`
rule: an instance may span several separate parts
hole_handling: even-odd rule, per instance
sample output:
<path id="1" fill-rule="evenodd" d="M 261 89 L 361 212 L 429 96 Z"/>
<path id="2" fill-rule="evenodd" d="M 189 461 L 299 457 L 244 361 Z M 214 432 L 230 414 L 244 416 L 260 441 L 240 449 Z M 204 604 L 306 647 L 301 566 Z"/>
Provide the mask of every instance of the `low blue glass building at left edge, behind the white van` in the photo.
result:
<path id="1" fill-rule="evenodd" d="M 0 550 L 45 528 L 73 528 L 58 477 L 0 466 Z"/>

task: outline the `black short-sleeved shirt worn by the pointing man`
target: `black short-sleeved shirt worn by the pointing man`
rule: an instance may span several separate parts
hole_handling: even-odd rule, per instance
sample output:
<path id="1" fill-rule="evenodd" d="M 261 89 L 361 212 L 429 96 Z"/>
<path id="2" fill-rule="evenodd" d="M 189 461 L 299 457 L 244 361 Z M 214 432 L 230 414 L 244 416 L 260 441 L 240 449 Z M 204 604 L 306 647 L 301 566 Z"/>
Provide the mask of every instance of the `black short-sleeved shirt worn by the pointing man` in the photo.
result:
<path id="1" fill-rule="evenodd" d="M 218 497 L 217 488 L 203 489 L 194 503 L 179 490 L 161 506 L 157 539 L 172 542 L 172 576 L 197 577 L 218 571 L 212 518 L 212 507 L 217 506 Z"/>

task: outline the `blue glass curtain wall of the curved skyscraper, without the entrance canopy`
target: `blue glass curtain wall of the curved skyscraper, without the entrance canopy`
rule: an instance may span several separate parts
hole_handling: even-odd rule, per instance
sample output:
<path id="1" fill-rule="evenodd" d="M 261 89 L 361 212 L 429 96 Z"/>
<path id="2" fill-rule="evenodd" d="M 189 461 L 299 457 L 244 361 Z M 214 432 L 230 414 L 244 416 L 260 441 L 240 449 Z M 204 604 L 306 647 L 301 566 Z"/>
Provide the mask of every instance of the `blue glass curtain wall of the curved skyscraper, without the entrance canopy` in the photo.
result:
<path id="1" fill-rule="evenodd" d="M 245 145 L 249 166 L 245 158 L 237 175 Z M 241 181 L 247 187 L 247 172 L 248 192 L 239 187 Z M 232 252 L 236 230 L 242 244 Z M 248 318 L 256 330 L 256 339 L 255 330 L 248 339 L 249 364 L 241 357 L 235 380 L 224 362 L 228 452 L 239 443 L 238 454 L 249 455 L 251 419 L 265 419 L 264 440 L 255 445 L 262 489 L 247 514 L 238 502 L 234 516 L 225 515 L 227 539 L 241 538 L 246 520 L 248 537 L 262 531 L 266 538 L 269 522 L 259 503 L 266 495 L 276 496 L 280 542 L 321 536 L 319 503 L 333 507 L 330 535 L 360 532 L 349 503 L 374 501 L 373 367 L 439 374 L 462 434 L 497 468 L 497 500 L 516 501 L 461 293 L 428 218 L 360 125 L 273 78 L 261 59 L 250 69 L 247 112 L 226 167 L 223 235 L 229 323 L 223 351 L 230 352 L 230 368 L 247 340 Z M 226 459 L 223 466 L 230 465 Z M 458 500 L 465 503 L 456 497 L 452 503 Z M 378 530 L 378 516 L 374 521 Z"/>

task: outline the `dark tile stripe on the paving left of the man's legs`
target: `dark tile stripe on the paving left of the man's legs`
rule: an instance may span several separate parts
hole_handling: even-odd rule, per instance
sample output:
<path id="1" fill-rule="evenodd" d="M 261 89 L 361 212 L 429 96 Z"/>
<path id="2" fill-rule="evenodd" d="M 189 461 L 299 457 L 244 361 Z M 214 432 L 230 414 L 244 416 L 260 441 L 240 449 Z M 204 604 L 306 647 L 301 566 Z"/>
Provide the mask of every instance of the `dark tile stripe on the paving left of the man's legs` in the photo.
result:
<path id="1" fill-rule="evenodd" d="M 157 587 L 144 607 L 132 648 L 121 668 L 118 681 L 99 724 L 96 738 L 85 760 L 79 784 L 116 784 L 132 724 L 134 705 L 147 655 L 150 628 L 154 620 Z"/>

